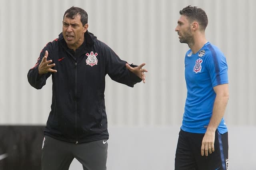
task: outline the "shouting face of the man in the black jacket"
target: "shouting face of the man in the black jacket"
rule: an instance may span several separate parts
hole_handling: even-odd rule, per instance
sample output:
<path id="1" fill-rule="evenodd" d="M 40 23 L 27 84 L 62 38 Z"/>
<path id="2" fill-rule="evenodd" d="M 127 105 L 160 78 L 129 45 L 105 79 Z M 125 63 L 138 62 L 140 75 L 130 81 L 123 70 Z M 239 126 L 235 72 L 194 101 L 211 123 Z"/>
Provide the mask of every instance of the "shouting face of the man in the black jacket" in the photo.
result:
<path id="1" fill-rule="evenodd" d="M 76 50 L 84 42 L 84 33 L 88 28 L 88 24 L 83 26 L 80 15 L 76 15 L 74 19 L 67 18 L 66 15 L 62 26 L 63 37 L 68 47 Z"/>

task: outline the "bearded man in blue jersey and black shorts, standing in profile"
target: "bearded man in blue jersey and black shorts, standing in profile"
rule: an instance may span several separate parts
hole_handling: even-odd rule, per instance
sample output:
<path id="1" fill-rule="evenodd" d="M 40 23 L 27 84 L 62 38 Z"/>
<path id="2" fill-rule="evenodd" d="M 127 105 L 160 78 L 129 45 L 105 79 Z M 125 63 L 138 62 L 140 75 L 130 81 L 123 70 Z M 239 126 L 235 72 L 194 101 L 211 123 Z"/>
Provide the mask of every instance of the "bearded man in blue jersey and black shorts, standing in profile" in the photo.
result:
<path id="1" fill-rule="evenodd" d="M 228 66 L 224 54 L 205 38 L 204 10 L 180 10 L 175 31 L 190 50 L 185 55 L 187 98 L 176 149 L 175 170 L 227 170 Z"/>

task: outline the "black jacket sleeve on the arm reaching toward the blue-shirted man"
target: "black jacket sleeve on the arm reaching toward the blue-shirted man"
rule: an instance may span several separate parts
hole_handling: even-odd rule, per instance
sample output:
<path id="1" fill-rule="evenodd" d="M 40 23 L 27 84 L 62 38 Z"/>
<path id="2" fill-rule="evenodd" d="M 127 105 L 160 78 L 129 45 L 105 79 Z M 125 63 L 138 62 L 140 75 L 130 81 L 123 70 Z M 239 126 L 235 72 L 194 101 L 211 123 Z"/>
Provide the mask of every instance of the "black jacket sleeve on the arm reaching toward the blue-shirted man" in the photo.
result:
<path id="1" fill-rule="evenodd" d="M 106 73 L 109 77 L 129 87 L 134 87 L 134 84 L 142 81 L 140 77 L 132 73 L 126 68 L 126 61 L 121 60 L 118 55 L 106 44 L 104 44 L 104 54 L 106 60 Z M 137 67 L 137 65 L 130 64 L 131 67 Z"/>

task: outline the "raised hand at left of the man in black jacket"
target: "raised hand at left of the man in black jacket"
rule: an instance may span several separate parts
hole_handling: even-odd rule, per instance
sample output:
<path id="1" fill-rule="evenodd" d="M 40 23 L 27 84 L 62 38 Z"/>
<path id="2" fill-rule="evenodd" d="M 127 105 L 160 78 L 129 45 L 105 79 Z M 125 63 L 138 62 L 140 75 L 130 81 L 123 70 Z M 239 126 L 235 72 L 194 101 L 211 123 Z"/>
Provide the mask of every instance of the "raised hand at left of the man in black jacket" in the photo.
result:
<path id="1" fill-rule="evenodd" d="M 52 67 L 54 67 L 55 64 L 54 63 L 50 64 L 52 63 L 52 60 L 50 59 L 47 61 L 47 57 L 48 57 L 48 51 L 45 51 L 44 57 L 38 66 L 39 74 L 44 74 L 48 72 L 53 72 L 53 73 L 57 72 L 57 70 L 52 69 Z"/>

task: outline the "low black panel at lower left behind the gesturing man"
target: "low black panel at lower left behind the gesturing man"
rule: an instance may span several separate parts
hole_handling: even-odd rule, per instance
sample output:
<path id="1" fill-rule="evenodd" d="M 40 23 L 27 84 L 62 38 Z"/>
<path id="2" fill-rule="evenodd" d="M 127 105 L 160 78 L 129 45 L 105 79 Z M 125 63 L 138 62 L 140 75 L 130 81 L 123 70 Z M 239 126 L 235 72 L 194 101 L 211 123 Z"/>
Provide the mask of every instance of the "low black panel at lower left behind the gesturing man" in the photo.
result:
<path id="1" fill-rule="evenodd" d="M 45 126 L 0 126 L 0 170 L 40 170 Z"/>

